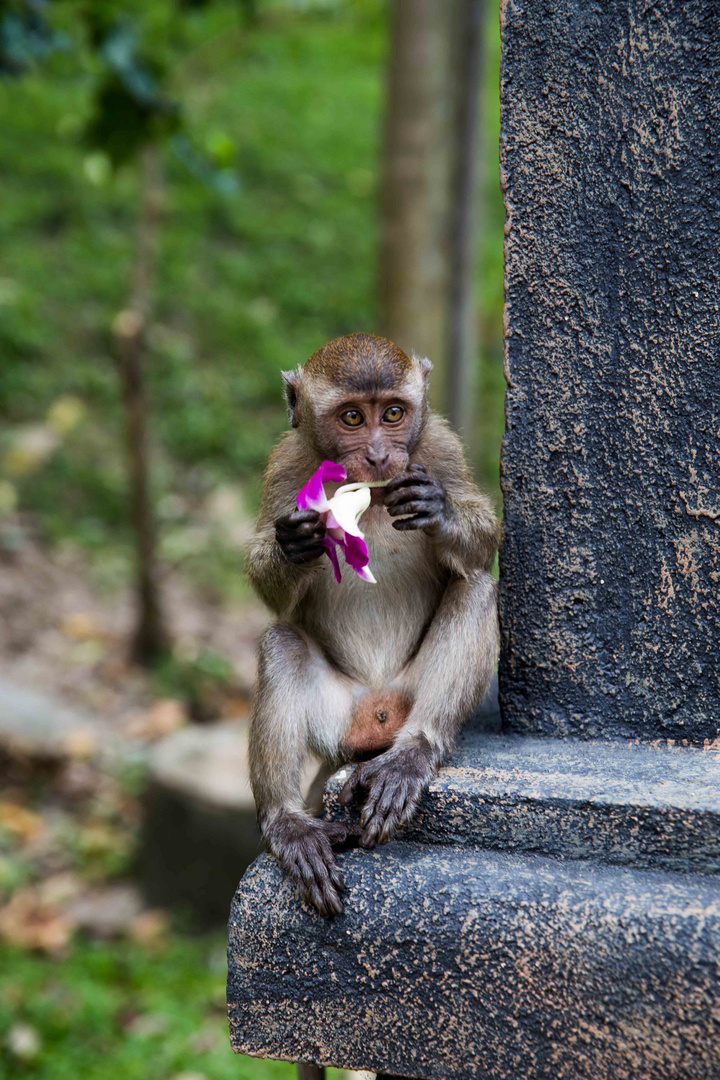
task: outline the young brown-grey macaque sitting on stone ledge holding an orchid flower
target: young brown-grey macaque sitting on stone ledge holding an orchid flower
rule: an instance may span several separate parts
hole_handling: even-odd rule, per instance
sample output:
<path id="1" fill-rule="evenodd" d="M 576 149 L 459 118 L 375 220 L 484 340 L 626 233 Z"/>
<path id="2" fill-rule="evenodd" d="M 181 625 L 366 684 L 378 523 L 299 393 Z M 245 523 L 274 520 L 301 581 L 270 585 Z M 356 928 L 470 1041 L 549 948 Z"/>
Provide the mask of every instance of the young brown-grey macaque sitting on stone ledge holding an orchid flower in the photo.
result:
<path id="1" fill-rule="evenodd" d="M 283 373 L 291 427 L 270 457 L 248 555 L 279 619 L 259 647 L 250 779 L 270 851 L 325 916 L 342 912 L 334 852 L 407 825 L 497 658 L 498 524 L 460 440 L 427 405 L 431 368 L 351 334 Z M 375 584 L 344 568 L 338 584 L 320 515 L 296 509 L 323 460 L 348 482 L 390 480 L 361 518 Z M 340 798 L 364 799 L 358 824 L 307 810 L 309 752 L 329 768 L 357 762 Z"/>

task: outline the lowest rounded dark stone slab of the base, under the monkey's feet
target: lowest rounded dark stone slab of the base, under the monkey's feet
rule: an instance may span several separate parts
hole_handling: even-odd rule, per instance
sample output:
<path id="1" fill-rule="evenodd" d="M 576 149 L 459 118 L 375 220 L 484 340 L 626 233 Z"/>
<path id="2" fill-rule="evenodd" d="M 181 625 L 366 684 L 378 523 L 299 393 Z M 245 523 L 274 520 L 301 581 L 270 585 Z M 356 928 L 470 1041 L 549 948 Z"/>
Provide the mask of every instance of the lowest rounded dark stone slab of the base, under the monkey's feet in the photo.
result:
<path id="1" fill-rule="evenodd" d="M 393 843 L 345 914 L 262 856 L 235 895 L 235 1050 L 431 1080 L 717 1080 L 720 880 Z"/>

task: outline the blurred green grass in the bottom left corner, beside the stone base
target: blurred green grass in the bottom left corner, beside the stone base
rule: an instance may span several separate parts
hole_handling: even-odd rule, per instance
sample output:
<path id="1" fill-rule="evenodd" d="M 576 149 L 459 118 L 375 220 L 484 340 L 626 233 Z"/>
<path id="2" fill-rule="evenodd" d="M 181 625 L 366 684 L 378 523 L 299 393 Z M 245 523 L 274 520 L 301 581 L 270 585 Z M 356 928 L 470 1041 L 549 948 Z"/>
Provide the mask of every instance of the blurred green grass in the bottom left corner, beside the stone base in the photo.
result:
<path id="1" fill-rule="evenodd" d="M 221 936 L 171 939 L 160 953 L 79 942 L 47 960 L 0 949 L 3 1080 L 290 1080 L 293 1065 L 233 1054 L 225 1016 Z M 8 1045 L 14 1025 L 36 1031 L 28 1061 Z M 330 1072 L 331 1077 L 338 1074 Z"/>

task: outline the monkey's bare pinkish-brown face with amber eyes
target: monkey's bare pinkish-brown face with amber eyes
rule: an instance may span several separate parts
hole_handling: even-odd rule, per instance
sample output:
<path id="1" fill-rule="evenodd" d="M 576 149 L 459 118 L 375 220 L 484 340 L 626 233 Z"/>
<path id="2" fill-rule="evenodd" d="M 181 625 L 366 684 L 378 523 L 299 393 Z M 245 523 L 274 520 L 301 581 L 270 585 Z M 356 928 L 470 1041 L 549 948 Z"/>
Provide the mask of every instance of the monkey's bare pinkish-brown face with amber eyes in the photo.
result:
<path id="1" fill-rule="evenodd" d="M 418 408 L 408 394 L 352 394 L 317 418 L 323 455 L 344 465 L 349 481 L 390 480 L 402 473 L 419 432 Z"/>

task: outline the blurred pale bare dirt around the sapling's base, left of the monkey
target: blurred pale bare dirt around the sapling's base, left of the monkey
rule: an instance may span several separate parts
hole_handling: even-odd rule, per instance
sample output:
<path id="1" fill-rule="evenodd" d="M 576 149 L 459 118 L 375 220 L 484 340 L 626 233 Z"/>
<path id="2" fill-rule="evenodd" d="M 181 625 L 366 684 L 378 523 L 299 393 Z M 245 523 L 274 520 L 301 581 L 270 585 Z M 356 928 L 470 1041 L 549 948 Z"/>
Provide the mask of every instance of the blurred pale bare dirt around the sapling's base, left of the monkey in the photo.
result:
<path id="1" fill-rule="evenodd" d="M 30 523 L 18 519 L 0 532 L 0 678 L 119 726 L 167 696 L 157 678 L 127 662 L 128 588 L 111 594 L 93 588 L 82 554 L 49 550 Z M 217 713 L 243 712 L 267 612 L 253 600 L 233 609 L 214 603 L 179 572 L 166 573 L 163 595 L 178 663 L 191 665 L 203 650 L 225 658 L 232 677 Z"/>

